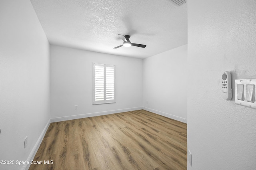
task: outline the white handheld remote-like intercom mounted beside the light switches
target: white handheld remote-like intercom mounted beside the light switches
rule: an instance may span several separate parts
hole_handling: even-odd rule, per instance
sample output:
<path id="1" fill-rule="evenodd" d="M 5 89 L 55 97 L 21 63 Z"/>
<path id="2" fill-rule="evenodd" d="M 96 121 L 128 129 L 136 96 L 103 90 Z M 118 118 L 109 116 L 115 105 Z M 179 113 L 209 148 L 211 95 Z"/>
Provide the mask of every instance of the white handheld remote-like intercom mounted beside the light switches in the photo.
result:
<path id="1" fill-rule="evenodd" d="M 222 73 L 222 98 L 224 100 L 232 99 L 231 75 L 229 71 Z"/>

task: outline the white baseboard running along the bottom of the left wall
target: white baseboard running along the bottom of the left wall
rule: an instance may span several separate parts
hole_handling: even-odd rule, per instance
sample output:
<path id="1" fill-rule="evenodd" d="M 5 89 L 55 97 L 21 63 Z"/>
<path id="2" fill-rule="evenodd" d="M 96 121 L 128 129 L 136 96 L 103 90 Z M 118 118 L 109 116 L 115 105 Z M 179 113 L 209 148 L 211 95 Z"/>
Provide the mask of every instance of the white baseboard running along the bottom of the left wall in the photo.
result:
<path id="1" fill-rule="evenodd" d="M 31 160 L 34 159 L 34 156 L 36 155 L 36 152 L 44 138 L 44 135 L 49 127 L 51 123 L 51 119 L 49 119 L 49 121 L 47 122 L 47 124 L 44 127 L 44 130 L 42 131 L 42 133 L 40 134 L 38 140 L 36 141 L 35 146 L 33 147 L 33 149 L 31 150 L 30 154 L 28 155 L 27 161 L 30 162 Z M 24 166 L 21 168 L 22 170 L 28 170 L 28 168 L 30 167 L 30 164 L 24 164 Z"/>

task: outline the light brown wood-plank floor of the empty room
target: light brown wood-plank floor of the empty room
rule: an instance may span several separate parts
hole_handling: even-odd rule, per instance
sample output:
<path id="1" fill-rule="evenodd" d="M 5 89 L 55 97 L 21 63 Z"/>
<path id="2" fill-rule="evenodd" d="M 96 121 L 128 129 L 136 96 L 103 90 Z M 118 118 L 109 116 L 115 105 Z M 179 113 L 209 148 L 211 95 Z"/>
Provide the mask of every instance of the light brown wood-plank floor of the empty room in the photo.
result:
<path id="1" fill-rule="evenodd" d="M 51 123 L 34 161 L 29 170 L 186 170 L 187 125 L 145 110 Z"/>

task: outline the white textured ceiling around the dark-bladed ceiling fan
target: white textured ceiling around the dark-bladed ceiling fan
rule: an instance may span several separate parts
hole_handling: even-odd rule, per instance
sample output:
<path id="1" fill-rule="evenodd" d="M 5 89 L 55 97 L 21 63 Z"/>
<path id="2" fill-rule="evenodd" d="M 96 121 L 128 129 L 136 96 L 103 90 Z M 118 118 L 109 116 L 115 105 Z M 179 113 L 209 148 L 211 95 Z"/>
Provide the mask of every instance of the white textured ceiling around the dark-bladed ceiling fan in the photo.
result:
<path id="1" fill-rule="evenodd" d="M 146 58 L 187 43 L 187 3 L 170 0 L 30 0 L 50 44 Z M 120 47 L 117 34 L 145 48 Z"/>

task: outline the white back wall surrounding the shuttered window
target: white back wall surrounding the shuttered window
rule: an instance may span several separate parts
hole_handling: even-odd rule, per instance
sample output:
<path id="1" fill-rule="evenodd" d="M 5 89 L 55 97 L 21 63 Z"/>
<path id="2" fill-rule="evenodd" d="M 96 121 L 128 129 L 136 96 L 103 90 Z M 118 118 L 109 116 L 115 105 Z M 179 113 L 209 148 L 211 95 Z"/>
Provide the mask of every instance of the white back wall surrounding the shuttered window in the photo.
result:
<path id="1" fill-rule="evenodd" d="M 50 45 L 51 117 L 142 108 L 142 59 Z M 92 105 L 92 63 L 116 65 L 116 103 Z M 74 106 L 78 105 L 75 110 Z M 110 112 L 108 112 L 110 111 Z M 93 114 L 95 115 L 95 114 Z M 54 119 L 53 119 L 54 120 Z M 64 119 L 56 119 L 60 121 Z"/>

